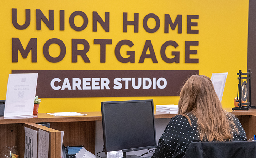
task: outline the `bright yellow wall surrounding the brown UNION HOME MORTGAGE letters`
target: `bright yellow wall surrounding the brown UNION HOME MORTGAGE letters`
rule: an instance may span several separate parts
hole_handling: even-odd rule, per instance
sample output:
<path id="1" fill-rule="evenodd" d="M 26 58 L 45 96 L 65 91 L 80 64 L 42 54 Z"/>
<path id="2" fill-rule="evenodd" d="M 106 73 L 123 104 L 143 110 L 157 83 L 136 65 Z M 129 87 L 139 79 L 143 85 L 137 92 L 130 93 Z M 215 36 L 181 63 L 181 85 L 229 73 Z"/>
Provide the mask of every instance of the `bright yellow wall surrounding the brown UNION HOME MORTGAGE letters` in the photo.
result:
<path id="1" fill-rule="evenodd" d="M 25 9 L 31 10 L 30 26 L 25 30 L 17 30 L 12 25 L 12 8 L 17 9 L 19 24 L 25 22 Z M 46 17 L 49 10 L 54 10 L 54 30 L 49 30 L 42 22 L 42 29 L 36 30 L 36 9 L 40 9 Z M 65 10 L 65 30 L 59 30 L 59 10 Z M 85 30 L 77 32 L 69 25 L 69 16 L 74 11 L 84 12 L 89 23 Z M 102 19 L 105 12 L 110 12 L 110 31 L 105 32 L 98 24 L 98 31 L 92 31 L 92 12 L 96 11 Z M 128 26 L 128 32 L 122 32 L 123 12 L 128 13 L 128 20 L 134 19 L 134 13 L 139 13 L 139 32 L 134 33 L 133 26 Z M 144 30 L 143 18 L 154 13 L 160 18 L 160 28 L 155 33 Z M 178 14 L 182 15 L 182 33 L 177 33 L 177 27 L 169 33 L 164 33 L 164 14 L 169 14 L 174 21 Z M 187 15 L 198 15 L 192 19 L 198 26 L 199 34 L 187 34 Z M 76 26 L 82 25 L 82 18 L 75 18 Z M 153 28 L 155 22 L 149 19 L 148 26 Z M 5 99 L 8 74 L 11 70 L 199 70 L 199 74 L 211 77 L 217 72 L 228 72 L 225 90 L 222 98 L 223 107 L 233 107 L 233 100 L 237 94 L 238 70 L 247 70 L 247 26 L 248 0 L 12 0 L 1 1 L 0 9 L 0 99 Z M 30 38 L 37 38 L 37 62 L 31 62 L 31 52 L 26 59 L 18 55 L 18 62 L 12 63 L 12 38 L 19 38 L 23 47 L 27 46 Z M 66 46 L 66 56 L 57 63 L 51 63 L 43 55 L 44 43 L 58 38 Z M 84 63 L 78 57 L 77 63 L 71 62 L 71 39 L 86 39 L 90 44 L 87 56 L 90 63 Z M 112 45 L 106 46 L 106 63 L 100 63 L 100 46 L 93 44 L 94 39 L 112 39 Z M 116 44 L 124 39 L 134 43 L 132 49 L 128 46 L 121 49 L 122 56 L 126 50 L 135 51 L 135 63 L 121 63 L 115 55 Z M 146 40 L 151 40 L 158 63 L 145 59 L 138 63 Z M 176 41 L 179 46 L 167 49 L 166 52 L 180 51 L 180 63 L 166 63 L 161 59 L 160 49 L 168 40 Z M 190 49 L 197 50 L 199 63 L 184 63 L 185 41 L 198 41 L 198 46 Z M 80 48 L 82 49 L 82 48 Z M 60 52 L 58 45 L 51 45 L 50 55 L 57 57 Z M 168 55 L 167 55 L 168 56 Z M 169 55 L 171 58 L 171 56 Z M 171 90 L 171 89 L 170 89 Z M 40 96 L 39 96 L 40 97 Z M 177 104 L 179 97 L 107 97 L 107 98 L 42 98 L 39 112 L 73 112 L 100 111 L 101 101 L 154 99 L 156 104 Z"/>

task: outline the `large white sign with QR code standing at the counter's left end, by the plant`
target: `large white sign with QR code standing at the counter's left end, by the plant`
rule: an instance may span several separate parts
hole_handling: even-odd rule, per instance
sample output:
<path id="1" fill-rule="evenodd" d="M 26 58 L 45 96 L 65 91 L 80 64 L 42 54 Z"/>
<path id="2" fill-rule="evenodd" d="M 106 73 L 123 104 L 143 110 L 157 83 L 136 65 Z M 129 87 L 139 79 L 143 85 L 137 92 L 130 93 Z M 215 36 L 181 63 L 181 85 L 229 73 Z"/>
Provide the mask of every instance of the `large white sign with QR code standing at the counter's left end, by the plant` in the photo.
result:
<path id="1" fill-rule="evenodd" d="M 33 115 L 38 73 L 9 74 L 4 117 Z"/>

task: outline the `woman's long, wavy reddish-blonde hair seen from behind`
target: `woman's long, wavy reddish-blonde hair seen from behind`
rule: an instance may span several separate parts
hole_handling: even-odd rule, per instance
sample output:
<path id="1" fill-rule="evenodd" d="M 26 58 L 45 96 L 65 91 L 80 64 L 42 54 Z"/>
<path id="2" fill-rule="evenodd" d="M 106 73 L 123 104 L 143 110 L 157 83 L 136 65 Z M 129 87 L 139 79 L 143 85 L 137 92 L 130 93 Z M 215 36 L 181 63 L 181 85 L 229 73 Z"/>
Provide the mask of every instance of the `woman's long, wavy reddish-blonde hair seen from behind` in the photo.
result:
<path id="1" fill-rule="evenodd" d="M 200 140 L 225 141 L 233 138 L 233 129 L 238 131 L 230 113 L 222 109 L 221 102 L 214 90 L 212 81 L 203 75 L 192 75 L 183 85 L 178 103 L 179 114 L 186 113 L 197 117 Z M 232 128 L 230 130 L 230 127 Z"/>

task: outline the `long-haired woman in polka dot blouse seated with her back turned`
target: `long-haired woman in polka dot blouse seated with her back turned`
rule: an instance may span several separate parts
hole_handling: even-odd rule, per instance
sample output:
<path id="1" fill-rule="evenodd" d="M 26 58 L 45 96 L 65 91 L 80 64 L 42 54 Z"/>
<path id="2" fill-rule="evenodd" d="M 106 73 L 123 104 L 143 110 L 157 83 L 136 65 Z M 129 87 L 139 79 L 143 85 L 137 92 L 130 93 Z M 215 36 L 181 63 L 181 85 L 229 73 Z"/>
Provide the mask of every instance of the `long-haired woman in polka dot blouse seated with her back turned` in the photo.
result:
<path id="1" fill-rule="evenodd" d="M 152 158 L 182 158 L 191 142 L 246 141 L 239 120 L 222 109 L 212 81 L 192 75 L 183 85 L 179 115 L 171 118 Z"/>

